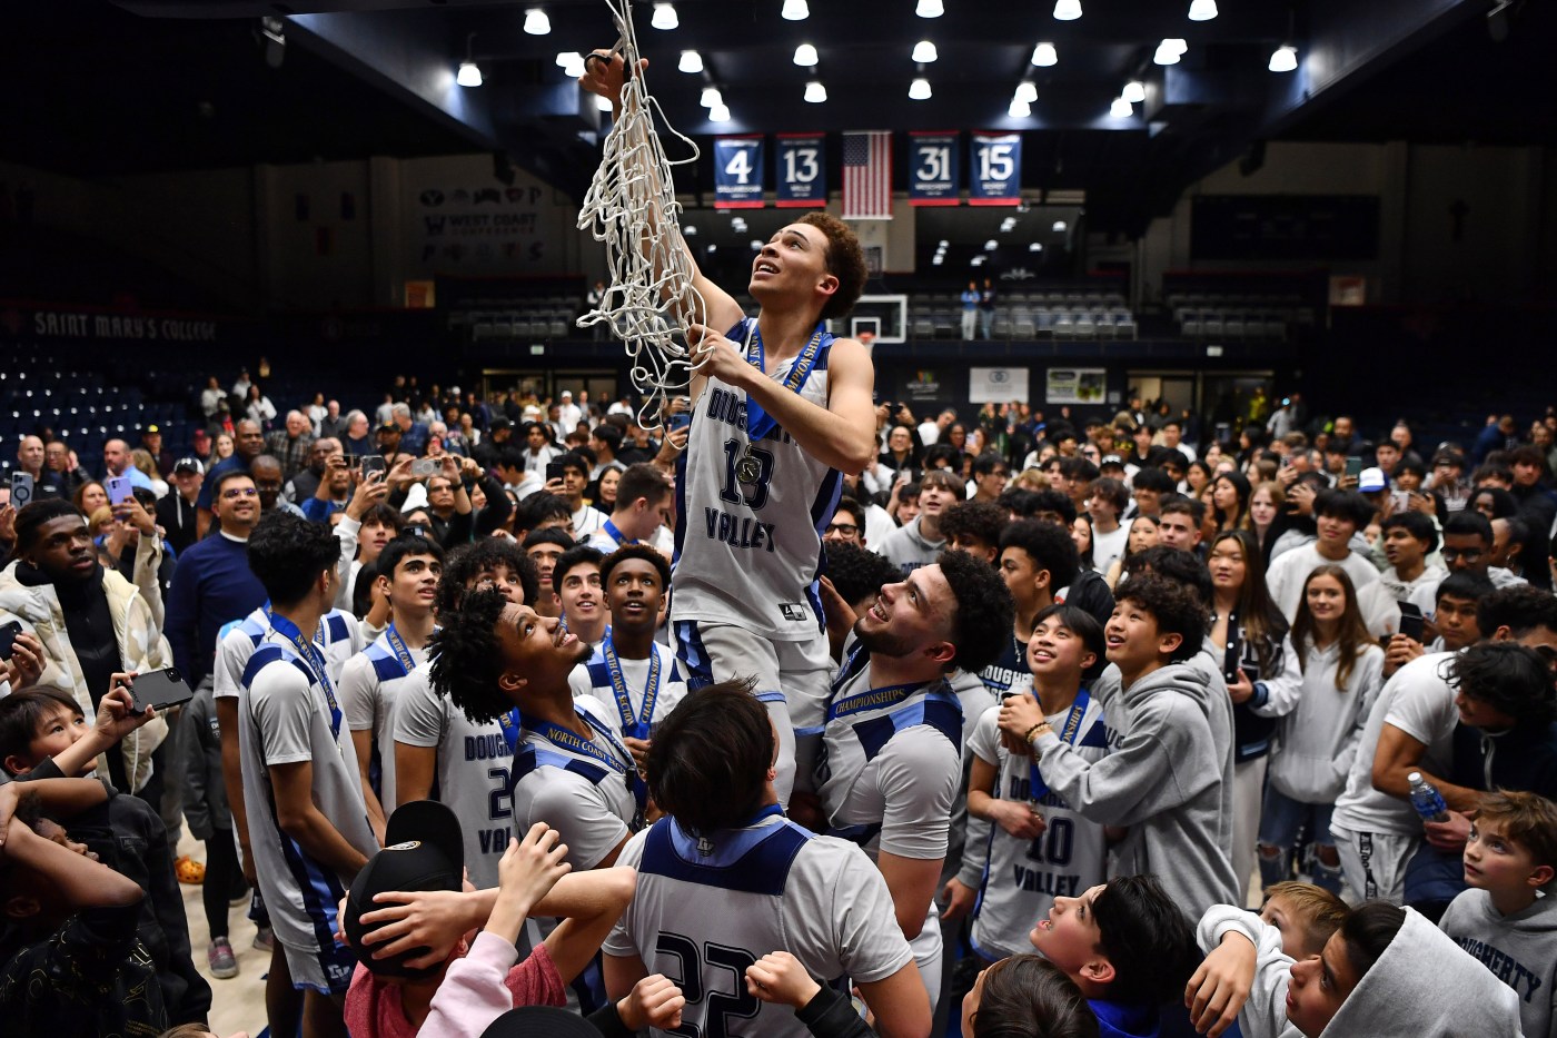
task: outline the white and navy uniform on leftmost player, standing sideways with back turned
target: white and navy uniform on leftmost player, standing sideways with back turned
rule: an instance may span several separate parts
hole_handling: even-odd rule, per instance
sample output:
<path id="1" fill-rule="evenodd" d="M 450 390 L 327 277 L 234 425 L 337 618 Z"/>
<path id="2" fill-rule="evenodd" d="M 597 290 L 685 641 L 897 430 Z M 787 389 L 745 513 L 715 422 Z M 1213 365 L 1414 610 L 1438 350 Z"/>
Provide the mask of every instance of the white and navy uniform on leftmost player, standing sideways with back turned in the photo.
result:
<path id="1" fill-rule="evenodd" d="M 268 628 L 249 658 L 238 692 L 238 743 L 249 846 L 276 937 L 288 948 L 324 951 L 346 895 L 344 877 L 313 860 L 276 815 L 269 768 L 313 764 L 313 801 L 361 854 L 378 851 L 367 823 L 357 753 L 346 717 L 332 720 L 325 684 L 285 634 Z M 329 977 L 332 987 L 349 977 Z"/>

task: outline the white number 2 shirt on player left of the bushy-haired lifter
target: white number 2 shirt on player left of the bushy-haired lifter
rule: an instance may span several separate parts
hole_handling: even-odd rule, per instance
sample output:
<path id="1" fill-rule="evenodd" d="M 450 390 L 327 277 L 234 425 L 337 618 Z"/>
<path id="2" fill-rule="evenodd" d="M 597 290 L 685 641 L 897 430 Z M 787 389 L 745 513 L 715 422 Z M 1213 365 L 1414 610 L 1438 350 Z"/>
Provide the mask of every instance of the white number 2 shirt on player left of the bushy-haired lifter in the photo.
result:
<path id="1" fill-rule="evenodd" d="M 508 789 L 514 751 L 503 726 L 472 722 L 431 689 L 427 667 L 417 667 L 395 694 L 394 740 L 438 750 L 433 798 L 459 818 L 470 882 L 480 890 L 497 887 L 497 867 L 514 834 Z"/>

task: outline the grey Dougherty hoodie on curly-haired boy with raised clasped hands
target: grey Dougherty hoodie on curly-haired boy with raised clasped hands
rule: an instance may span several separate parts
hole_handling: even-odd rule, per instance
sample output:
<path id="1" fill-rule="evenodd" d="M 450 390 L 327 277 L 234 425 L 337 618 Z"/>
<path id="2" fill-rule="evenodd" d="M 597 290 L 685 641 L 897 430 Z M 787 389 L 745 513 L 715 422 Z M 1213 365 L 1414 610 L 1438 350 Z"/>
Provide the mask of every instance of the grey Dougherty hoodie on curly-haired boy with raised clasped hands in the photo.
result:
<path id="1" fill-rule="evenodd" d="M 1109 756 L 1088 762 L 1045 731 L 1034 743 L 1043 781 L 1088 820 L 1129 826 L 1113 874 L 1155 874 L 1190 918 L 1236 901 L 1233 711 L 1216 659 L 1200 651 L 1127 689 L 1110 666 L 1099 684 Z"/>

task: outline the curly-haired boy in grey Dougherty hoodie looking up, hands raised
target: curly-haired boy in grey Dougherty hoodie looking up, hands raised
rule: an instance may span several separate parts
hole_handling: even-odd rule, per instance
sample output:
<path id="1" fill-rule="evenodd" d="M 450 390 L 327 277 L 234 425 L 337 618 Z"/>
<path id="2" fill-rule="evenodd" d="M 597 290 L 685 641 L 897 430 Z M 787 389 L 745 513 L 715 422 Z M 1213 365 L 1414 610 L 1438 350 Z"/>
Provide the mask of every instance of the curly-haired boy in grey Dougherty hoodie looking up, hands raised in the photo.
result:
<path id="1" fill-rule="evenodd" d="M 1104 628 L 1112 667 L 1095 687 L 1113 733 L 1109 756 L 1088 761 L 1048 720 L 1028 722 L 1014 706 L 1001 711 L 1000 728 L 1032 747 L 1043 781 L 1074 810 L 1129 826 L 1115 848 L 1116 876 L 1154 873 L 1176 902 L 1199 913 L 1232 902 L 1239 888 L 1227 789 L 1230 708 L 1225 692 L 1186 666 L 1208 627 L 1196 592 L 1157 574 L 1124 588 Z"/>

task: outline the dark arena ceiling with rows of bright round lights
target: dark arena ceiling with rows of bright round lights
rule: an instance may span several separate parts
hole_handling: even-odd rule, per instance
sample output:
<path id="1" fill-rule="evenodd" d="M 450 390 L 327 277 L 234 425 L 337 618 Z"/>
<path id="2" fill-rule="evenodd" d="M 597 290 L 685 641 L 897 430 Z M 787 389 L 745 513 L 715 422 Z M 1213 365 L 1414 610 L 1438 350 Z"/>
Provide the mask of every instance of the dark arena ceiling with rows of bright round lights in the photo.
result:
<path id="1" fill-rule="evenodd" d="M 674 0 L 673 30 L 651 26 L 651 3 L 634 11 L 649 87 L 684 132 L 1020 129 L 1025 187 L 1084 192 L 1095 229 L 1138 231 L 1261 140 L 1557 134 L 1543 53 L 1557 5 L 1221 0 L 1190 20 L 1190 0 L 1081 0 L 1082 17 L 1057 20 L 1051 0 L 944 0 L 939 17 L 919 17 L 920 2 L 810 0 L 789 20 L 783 0 Z M 529 8 L 548 34 L 525 31 Z M 0 159 L 114 176 L 494 151 L 573 195 L 601 115 L 556 58 L 615 39 L 604 0 L 33 0 L 6 20 Z M 1163 39 L 1185 41 L 1177 64 L 1155 64 Z M 912 59 L 919 41 L 936 61 Z M 814 69 L 793 61 L 807 42 Z M 1056 64 L 1032 64 L 1039 42 Z M 1281 44 L 1297 70 L 1267 70 Z M 677 70 L 684 50 L 702 72 Z M 455 83 L 467 56 L 480 87 Z M 917 76 L 928 100 L 908 97 Z M 810 79 L 825 103 L 802 100 Z M 1132 79 L 1144 101 L 1110 115 Z M 1023 81 L 1037 100 L 1018 118 Z M 710 122 L 705 86 L 729 122 Z M 712 176 L 688 170 L 679 187 L 708 192 Z"/>

